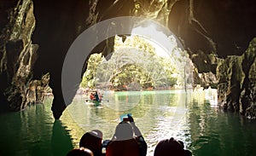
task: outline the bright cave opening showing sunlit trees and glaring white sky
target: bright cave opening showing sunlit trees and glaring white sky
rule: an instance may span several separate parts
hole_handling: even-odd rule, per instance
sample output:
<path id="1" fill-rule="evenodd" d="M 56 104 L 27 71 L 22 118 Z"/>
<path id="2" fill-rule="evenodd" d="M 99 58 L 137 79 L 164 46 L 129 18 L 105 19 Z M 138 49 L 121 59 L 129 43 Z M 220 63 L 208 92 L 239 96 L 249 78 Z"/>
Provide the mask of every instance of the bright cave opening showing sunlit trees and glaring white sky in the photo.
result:
<path id="1" fill-rule="evenodd" d="M 192 88 L 192 68 L 174 35 L 138 26 L 129 36 L 114 37 L 111 54 L 90 55 L 80 90 L 186 90 Z"/>

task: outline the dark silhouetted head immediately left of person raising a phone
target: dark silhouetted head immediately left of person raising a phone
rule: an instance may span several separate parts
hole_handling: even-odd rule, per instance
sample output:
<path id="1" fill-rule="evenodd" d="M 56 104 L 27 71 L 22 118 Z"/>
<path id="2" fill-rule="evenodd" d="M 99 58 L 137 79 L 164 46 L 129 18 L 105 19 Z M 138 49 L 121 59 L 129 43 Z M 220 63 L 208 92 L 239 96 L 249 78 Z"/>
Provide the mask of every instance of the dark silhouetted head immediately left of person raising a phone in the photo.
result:
<path id="1" fill-rule="evenodd" d="M 94 155 L 102 153 L 102 131 L 91 130 L 81 137 L 79 147 L 89 148 Z"/>

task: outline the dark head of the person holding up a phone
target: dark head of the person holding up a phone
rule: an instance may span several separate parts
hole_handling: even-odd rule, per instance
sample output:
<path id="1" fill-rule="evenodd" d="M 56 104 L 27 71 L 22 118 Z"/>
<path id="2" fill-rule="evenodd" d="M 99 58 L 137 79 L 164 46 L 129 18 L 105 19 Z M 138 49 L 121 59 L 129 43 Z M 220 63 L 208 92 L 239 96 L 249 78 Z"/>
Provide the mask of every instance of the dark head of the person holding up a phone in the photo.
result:
<path id="1" fill-rule="evenodd" d="M 133 138 L 133 130 L 128 122 L 121 122 L 115 128 L 114 140 L 124 141 Z"/>

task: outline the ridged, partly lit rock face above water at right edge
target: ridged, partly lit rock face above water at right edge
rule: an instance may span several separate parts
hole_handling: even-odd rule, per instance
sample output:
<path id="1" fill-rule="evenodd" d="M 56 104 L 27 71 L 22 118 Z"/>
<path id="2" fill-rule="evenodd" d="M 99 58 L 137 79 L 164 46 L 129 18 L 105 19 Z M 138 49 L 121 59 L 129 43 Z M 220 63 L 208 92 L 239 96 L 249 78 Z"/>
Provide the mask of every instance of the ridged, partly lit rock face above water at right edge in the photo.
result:
<path id="1" fill-rule="evenodd" d="M 230 55 L 217 67 L 218 104 L 248 118 L 255 118 L 255 43 L 256 38 L 243 55 Z"/>

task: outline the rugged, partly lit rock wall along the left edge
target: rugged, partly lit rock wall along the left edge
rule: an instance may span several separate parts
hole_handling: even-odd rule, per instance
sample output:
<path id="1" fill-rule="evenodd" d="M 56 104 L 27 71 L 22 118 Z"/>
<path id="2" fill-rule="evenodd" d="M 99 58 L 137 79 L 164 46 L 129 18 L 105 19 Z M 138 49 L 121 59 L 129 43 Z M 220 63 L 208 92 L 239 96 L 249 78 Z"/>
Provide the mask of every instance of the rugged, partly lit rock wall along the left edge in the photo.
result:
<path id="1" fill-rule="evenodd" d="M 38 89 L 32 88 L 42 87 L 42 92 L 48 82 L 40 84 L 42 81 L 38 80 L 34 84 L 35 80 L 32 81 L 32 67 L 38 50 L 38 45 L 31 39 L 36 23 L 32 1 L 4 1 L 2 4 L 5 8 L 1 9 L 1 111 L 20 110 L 27 104 L 42 101 Z"/>

